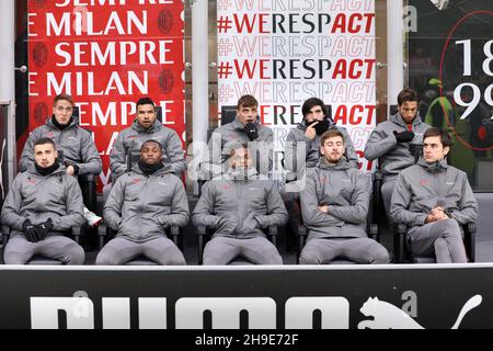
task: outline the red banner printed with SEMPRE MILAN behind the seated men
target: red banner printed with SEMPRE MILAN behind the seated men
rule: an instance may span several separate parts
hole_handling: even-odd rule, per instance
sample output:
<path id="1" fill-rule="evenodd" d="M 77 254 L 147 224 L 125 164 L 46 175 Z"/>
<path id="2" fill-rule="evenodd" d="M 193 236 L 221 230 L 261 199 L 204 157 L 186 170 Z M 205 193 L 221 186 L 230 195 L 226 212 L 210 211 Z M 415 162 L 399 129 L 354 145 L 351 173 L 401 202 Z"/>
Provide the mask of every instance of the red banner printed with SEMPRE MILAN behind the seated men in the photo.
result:
<path id="1" fill-rule="evenodd" d="M 28 0 L 30 132 L 68 93 L 94 132 L 108 180 L 112 146 L 150 97 L 185 140 L 181 0 Z"/>

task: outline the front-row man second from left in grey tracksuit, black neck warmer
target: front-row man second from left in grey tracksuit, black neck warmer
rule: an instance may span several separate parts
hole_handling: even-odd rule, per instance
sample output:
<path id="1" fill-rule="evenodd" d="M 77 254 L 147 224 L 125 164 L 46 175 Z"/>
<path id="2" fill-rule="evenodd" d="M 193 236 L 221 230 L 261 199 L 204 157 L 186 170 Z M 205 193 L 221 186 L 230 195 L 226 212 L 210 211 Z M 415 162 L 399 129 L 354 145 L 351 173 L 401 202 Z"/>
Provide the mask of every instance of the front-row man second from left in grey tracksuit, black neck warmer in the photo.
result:
<path id="1" fill-rule="evenodd" d="M 188 202 L 182 181 L 163 165 L 162 155 L 159 141 L 145 141 L 137 165 L 116 181 L 103 216 L 117 234 L 100 251 L 96 264 L 125 264 L 139 256 L 159 264 L 185 264 L 165 229 L 187 224 Z"/>

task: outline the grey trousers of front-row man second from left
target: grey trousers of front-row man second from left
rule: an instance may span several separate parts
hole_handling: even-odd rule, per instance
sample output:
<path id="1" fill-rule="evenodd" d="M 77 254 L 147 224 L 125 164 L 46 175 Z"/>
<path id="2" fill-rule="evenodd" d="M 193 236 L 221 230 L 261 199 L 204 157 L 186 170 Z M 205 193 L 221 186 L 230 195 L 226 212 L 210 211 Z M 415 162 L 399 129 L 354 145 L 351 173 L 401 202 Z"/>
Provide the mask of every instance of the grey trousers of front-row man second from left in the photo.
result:
<path id="1" fill-rule="evenodd" d="M 158 264 L 183 265 L 185 258 L 174 242 L 158 237 L 144 242 L 135 242 L 116 237 L 110 240 L 96 257 L 96 264 L 118 265 L 144 256 Z"/>

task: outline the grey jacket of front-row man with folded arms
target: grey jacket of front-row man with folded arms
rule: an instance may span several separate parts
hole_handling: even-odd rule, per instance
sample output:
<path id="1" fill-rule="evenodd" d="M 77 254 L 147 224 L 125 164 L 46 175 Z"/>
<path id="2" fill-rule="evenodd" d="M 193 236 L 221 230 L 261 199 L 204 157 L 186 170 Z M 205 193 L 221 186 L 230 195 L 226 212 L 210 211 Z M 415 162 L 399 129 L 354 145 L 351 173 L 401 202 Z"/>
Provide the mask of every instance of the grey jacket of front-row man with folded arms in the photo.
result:
<path id="1" fill-rule="evenodd" d="M 308 172 L 306 189 L 300 196 L 309 239 L 367 237 L 368 181 L 344 157 L 335 166 L 320 158 L 317 167 Z M 329 206 L 328 213 L 318 210 L 322 205 Z"/>

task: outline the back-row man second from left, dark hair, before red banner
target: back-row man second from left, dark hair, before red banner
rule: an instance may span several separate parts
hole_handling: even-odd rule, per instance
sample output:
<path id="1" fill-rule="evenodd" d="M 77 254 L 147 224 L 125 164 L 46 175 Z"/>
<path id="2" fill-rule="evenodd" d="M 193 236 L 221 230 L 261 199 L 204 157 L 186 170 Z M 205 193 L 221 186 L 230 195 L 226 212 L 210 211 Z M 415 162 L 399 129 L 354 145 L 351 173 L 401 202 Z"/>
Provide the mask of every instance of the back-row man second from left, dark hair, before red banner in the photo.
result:
<path id="1" fill-rule="evenodd" d="M 163 148 L 165 163 L 171 171 L 179 176 L 186 169 L 182 141 L 176 132 L 165 127 L 157 120 L 154 102 L 150 98 L 141 98 L 137 101 L 137 116 L 130 127 L 123 129 L 113 145 L 110 155 L 110 169 L 112 182 L 127 171 L 126 156 L 131 149 L 140 149 L 144 141 L 158 140 Z"/>

